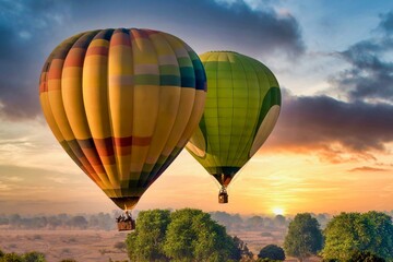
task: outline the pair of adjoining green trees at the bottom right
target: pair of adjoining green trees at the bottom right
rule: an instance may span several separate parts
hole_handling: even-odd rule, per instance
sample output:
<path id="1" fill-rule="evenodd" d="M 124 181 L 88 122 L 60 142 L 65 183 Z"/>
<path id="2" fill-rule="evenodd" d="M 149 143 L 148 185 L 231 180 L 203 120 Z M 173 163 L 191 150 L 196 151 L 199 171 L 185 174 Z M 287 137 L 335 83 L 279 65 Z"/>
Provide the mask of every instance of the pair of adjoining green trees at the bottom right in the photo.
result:
<path id="1" fill-rule="evenodd" d="M 392 262 L 392 217 L 376 211 L 341 213 L 321 230 L 310 214 L 298 214 L 289 223 L 284 250 L 299 261 L 320 255 L 325 262 Z"/>

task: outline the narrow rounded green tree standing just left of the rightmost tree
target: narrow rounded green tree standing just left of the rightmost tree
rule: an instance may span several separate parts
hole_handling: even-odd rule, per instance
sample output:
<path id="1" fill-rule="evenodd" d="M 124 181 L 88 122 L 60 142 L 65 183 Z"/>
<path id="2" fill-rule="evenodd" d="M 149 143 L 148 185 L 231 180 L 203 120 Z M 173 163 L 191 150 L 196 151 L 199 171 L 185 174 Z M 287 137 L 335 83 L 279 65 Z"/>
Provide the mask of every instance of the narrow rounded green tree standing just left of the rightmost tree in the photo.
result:
<path id="1" fill-rule="evenodd" d="M 289 223 L 288 234 L 285 237 L 284 249 L 286 254 L 302 261 L 322 249 L 323 237 L 320 225 L 309 213 L 297 214 Z"/>

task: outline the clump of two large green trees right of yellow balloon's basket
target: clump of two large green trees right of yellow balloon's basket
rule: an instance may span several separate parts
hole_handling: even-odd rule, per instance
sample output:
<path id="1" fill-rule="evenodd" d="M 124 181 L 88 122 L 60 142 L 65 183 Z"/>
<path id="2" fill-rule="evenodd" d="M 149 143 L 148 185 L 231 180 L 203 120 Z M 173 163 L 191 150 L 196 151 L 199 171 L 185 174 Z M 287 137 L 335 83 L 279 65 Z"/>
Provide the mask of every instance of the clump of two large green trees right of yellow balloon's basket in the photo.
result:
<path id="1" fill-rule="evenodd" d="M 136 229 L 128 235 L 131 261 L 230 261 L 240 251 L 225 227 L 199 210 L 163 210 L 139 214 Z"/>

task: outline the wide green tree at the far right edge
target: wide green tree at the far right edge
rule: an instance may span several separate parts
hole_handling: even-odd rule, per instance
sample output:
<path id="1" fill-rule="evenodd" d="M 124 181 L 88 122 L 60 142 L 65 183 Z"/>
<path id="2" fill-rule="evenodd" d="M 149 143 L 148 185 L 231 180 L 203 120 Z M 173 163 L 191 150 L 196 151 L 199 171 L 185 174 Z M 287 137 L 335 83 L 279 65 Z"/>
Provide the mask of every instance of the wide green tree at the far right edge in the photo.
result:
<path id="1" fill-rule="evenodd" d="M 393 224 L 384 213 L 342 213 L 327 224 L 324 236 L 325 260 L 347 261 L 356 251 L 393 260 Z"/>

